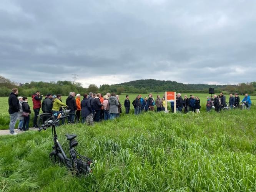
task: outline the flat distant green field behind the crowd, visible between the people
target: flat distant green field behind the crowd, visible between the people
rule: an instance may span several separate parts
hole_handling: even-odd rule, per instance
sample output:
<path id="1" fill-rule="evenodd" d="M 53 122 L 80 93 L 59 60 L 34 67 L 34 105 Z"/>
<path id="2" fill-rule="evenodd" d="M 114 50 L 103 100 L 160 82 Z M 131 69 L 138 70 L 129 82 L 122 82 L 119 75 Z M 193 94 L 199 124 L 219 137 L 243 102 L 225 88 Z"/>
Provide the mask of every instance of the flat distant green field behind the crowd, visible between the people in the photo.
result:
<path id="1" fill-rule="evenodd" d="M 120 103 L 123 105 L 125 101 L 125 95 L 128 94 L 130 96 L 130 102 L 136 98 L 138 94 L 129 94 L 129 93 L 123 93 L 120 95 Z M 153 97 L 156 99 L 157 95 L 160 95 L 161 97 L 163 96 L 164 93 L 153 93 Z M 201 100 L 201 106 L 202 106 L 202 111 L 205 110 L 205 104 L 206 104 L 206 97 L 210 96 L 209 94 L 203 94 L 203 93 L 182 93 L 182 98 L 184 98 L 184 95 L 187 95 L 188 97 L 193 94 L 194 96 L 198 96 L 199 99 Z M 148 96 L 148 94 L 141 94 L 143 98 Z M 62 101 L 65 103 L 67 96 L 62 97 Z M 81 96 L 81 99 L 83 97 Z M 226 95 L 226 101 L 228 102 L 229 96 Z M 242 100 L 244 96 L 240 96 L 240 99 Z M 253 103 L 256 103 L 256 96 L 251 96 L 251 100 Z M 28 98 L 28 104 L 30 105 L 30 108 L 33 108 L 33 103 L 32 103 L 32 98 Z M 0 97 L 0 130 L 1 129 L 8 129 L 9 127 L 9 114 L 8 114 L 8 97 Z M 168 103 L 168 110 L 170 110 L 170 103 Z M 42 110 L 40 111 L 42 113 Z M 134 113 L 133 106 L 131 104 L 131 111 L 130 113 Z M 30 126 L 33 126 L 32 119 L 34 118 L 34 112 L 32 109 L 32 114 L 30 117 Z M 17 124 L 16 124 L 17 127 Z"/>

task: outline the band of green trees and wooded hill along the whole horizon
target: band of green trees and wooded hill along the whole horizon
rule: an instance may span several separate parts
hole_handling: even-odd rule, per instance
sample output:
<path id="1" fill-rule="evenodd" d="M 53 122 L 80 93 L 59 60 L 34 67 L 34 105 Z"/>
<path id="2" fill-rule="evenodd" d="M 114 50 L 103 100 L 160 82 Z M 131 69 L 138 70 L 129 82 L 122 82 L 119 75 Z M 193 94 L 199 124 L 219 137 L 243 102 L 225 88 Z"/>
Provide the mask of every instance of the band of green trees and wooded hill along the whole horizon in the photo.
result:
<path id="1" fill-rule="evenodd" d="M 68 96 L 70 91 L 75 93 L 161 93 L 165 91 L 176 91 L 180 93 L 208 93 L 208 88 L 214 88 L 216 93 L 226 91 L 227 93 L 238 94 L 254 94 L 256 90 L 256 82 L 240 83 L 238 85 L 209 85 L 209 84 L 183 84 L 176 81 L 160 81 L 155 79 L 141 79 L 120 84 L 103 84 L 100 87 L 95 84 L 90 84 L 88 88 L 83 88 L 81 83 L 73 83 L 71 81 L 57 81 L 57 82 L 35 82 L 30 83 L 15 83 L 9 79 L 0 76 L 0 96 L 9 96 L 11 89 L 17 87 L 19 94 L 24 96 L 31 96 L 37 90 L 42 94 L 62 94 Z"/>

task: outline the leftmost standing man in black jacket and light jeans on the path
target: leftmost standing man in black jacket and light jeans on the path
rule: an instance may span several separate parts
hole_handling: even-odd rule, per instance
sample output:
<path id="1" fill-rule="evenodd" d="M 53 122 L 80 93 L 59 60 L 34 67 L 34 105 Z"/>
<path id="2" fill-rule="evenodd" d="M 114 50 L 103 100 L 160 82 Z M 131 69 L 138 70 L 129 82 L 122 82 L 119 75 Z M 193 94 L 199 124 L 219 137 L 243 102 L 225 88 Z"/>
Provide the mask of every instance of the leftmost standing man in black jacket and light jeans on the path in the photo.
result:
<path id="1" fill-rule="evenodd" d="M 16 135 L 17 133 L 14 132 L 14 127 L 18 119 L 18 112 L 20 111 L 20 102 L 18 100 L 18 89 L 13 88 L 12 93 L 10 94 L 8 98 L 8 104 L 9 104 L 9 114 L 10 114 L 10 134 Z"/>

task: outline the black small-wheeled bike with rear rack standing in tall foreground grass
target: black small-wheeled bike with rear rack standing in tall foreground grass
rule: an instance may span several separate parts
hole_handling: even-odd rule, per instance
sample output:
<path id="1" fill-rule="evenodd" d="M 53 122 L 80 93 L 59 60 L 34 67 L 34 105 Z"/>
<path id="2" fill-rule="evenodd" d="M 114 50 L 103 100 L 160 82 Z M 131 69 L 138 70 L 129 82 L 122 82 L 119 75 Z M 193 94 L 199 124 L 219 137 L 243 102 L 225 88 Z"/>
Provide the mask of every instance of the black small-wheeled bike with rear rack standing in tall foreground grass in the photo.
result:
<path id="1" fill-rule="evenodd" d="M 62 116 L 62 118 L 66 118 L 66 117 L 68 117 L 68 115 Z M 92 160 L 88 157 L 78 154 L 78 152 L 75 150 L 74 147 L 78 145 L 78 142 L 75 140 L 76 138 L 75 134 L 65 135 L 67 137 L 67 140 L 69 141 L 70 158 L 68 158 L 67 155 L 65 154 L 60 142 L 58 141 L 58 137 L 55 129 L 55 124 L 57 124 L 58 121 L 60 121 L 60 119 L 61 118 L 55 119 L 55 121 L 52 121 L 52 120 L 45 121 L 45 124 L 43 124 L 38 130 L 40 132 L 42 129 L 46 130 L 47 127 L 52 126 L 54 146 L 52 147 L 53 151 L 50 152 L 49 154 L 50 159 L 52 159 L 52 161 L 57 164 L 65 165 L 68 169 L 70 169 L 76 175 L 90 174 L 92 172 L 90 167 L 92 164 Z"/>

